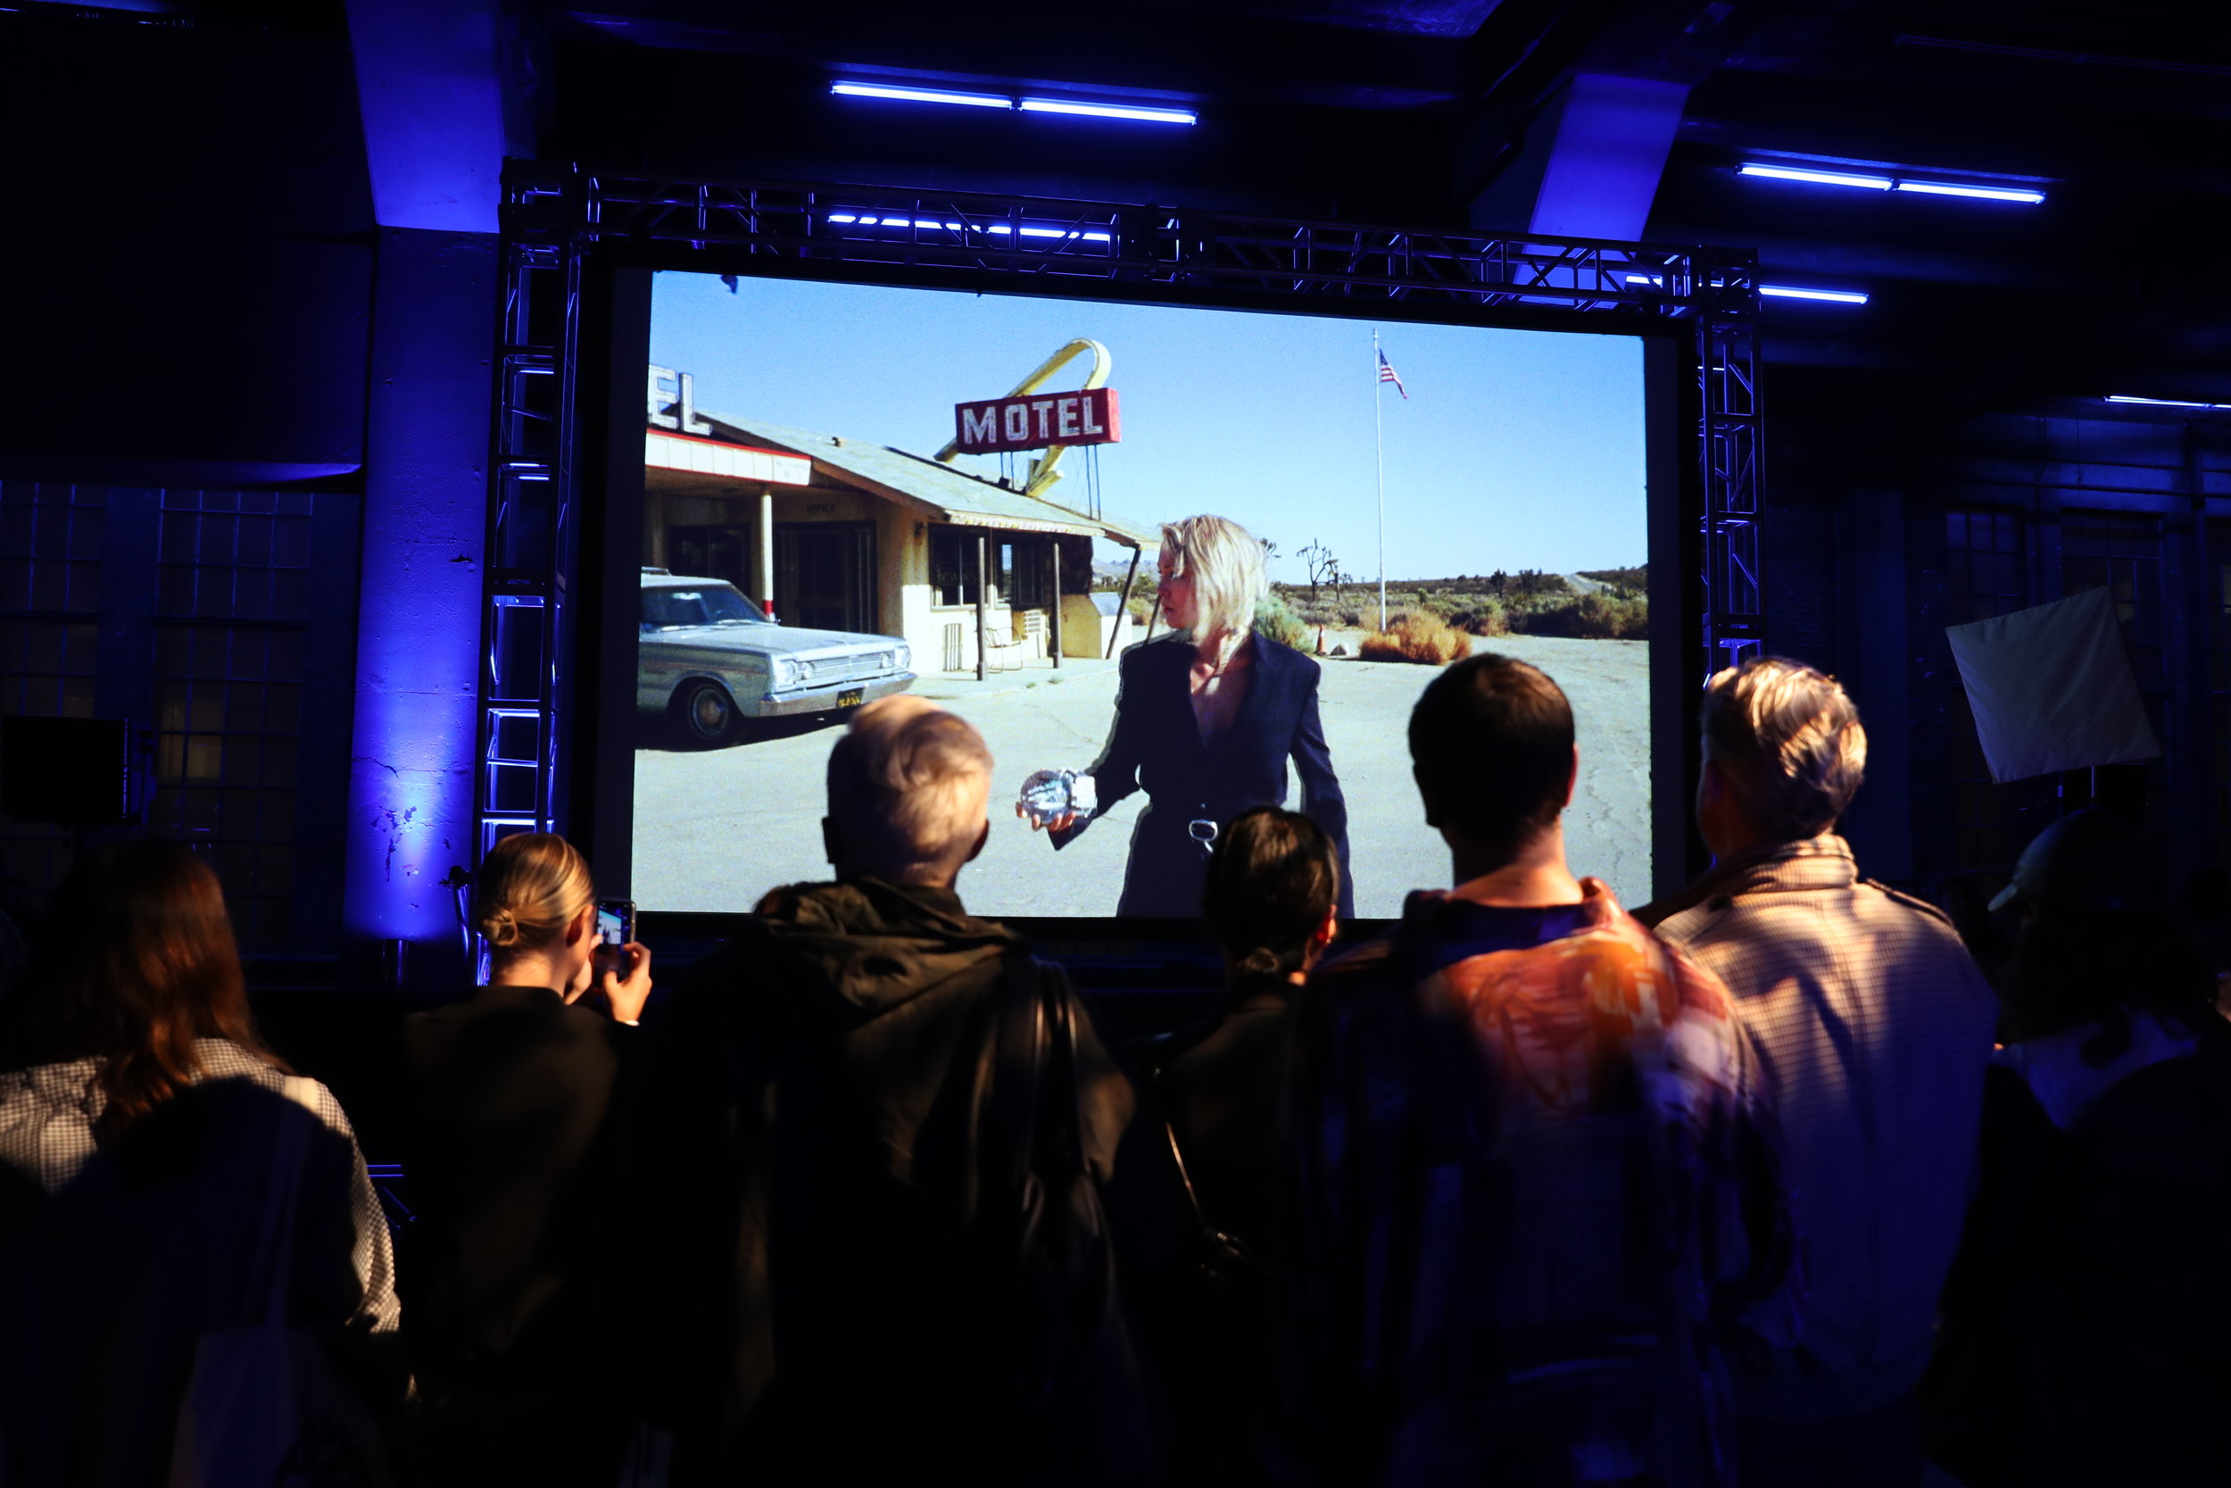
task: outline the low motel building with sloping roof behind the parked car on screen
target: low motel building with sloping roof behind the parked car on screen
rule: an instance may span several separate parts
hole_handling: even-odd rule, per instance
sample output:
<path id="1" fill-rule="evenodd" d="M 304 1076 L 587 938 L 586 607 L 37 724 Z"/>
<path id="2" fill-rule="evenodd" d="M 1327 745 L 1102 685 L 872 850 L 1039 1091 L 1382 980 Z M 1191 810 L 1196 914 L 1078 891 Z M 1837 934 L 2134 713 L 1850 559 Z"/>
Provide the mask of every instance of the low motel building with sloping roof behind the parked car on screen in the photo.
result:
<path id="1" fill-rule="evenodd" d="M 1118 596 L 1091 591 L 1093 540 L 1136 569 L 1158 529 L 870 439 L 701 413 L 687 375 L 649 373 L 645 564 L 723 578 L 783 625 L 899 636 L 924 676 L 1131 642 Z"/>

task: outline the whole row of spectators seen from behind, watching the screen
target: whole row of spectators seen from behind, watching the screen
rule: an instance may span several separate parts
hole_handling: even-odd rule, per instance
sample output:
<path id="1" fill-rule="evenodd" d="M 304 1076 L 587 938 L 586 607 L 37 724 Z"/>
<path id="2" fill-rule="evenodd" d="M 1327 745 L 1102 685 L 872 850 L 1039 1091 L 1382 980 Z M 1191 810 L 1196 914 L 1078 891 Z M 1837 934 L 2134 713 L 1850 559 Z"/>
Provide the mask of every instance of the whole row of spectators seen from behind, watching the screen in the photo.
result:
<path id="1" fill-rule="evenodd" d="M 1954 906 L 1988 977 L 1836 834 L 1832 678 L 1722 671 L 1702 741 L 1713 866 L 1626 910 L 1555 680 L 1446 667 L 1448 883 L 1343 941 L 1334 837 L 1223 823 L 1220 1006 L 1136 1046 L 966 910 L 993 759 L 921 698 L 656 997 L 511 837 L 393 1051 L 402 1256 L 214 875 L 89 857 L 0 1004 L 0 1481 L 2231 1481 L 2231 1031 L 2142 834 Z"/>

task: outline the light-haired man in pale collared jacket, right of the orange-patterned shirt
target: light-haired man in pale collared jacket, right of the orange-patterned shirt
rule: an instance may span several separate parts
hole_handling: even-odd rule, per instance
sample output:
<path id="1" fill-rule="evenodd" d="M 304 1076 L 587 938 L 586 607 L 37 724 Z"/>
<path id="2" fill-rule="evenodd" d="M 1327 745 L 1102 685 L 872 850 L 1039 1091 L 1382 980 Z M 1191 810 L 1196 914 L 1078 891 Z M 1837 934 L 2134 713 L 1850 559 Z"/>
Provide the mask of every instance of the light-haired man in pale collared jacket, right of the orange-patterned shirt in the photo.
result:
<path id="1" fill-rule="evenodd" d="M 1805 1330 L 1738 1361 L 1742 1481 L 1912 1484 L 1912 1390 L 1974 1182 L 1997 999 L 1932 906 L 1858 877 L 1836 819 L 1867 734 L 1834 678 L 1760 658 L 1704 692 L 1713 870 L 1642 910 L 1736 995 L 1783 1122 Z"/>

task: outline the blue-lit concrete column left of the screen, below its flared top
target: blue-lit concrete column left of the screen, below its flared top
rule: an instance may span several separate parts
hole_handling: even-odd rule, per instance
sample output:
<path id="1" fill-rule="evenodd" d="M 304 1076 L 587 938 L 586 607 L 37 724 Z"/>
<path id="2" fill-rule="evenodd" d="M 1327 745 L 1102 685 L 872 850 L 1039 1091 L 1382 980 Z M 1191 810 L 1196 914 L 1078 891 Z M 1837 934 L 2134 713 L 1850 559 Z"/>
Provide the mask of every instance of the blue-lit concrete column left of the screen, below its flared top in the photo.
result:
<path id="1" fill-rule="evenodd" d="M 366 406 L 364 593 L 344 924 L 457 944 L 473 861 L 493 234 L 382 228 Z"/>

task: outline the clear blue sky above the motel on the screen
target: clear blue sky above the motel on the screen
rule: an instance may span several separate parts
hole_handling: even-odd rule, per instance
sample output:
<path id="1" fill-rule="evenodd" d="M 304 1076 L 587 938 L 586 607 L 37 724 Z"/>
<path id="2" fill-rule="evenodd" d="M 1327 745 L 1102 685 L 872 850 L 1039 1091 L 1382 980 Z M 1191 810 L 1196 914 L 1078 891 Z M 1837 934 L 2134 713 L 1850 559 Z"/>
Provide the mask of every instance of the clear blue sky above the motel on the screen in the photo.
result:
<path id="1" fill-rule="evenodd" d="M 1379 332 L 1410 388 L 1383 393 L 1390 580 L 1644 560 L 1640 341 Z M 1278 544 L 1274 578 L 1298 582 L 1312 540 L 1377 576 L 1370 321 L 783 279 L 732 294 L 685 272 L 651 299 L 651 361 L 689 373 L 698 408 L 921 455 L 953 437 L 953 404 L 1002 397 L 1071 337 L 1109 348 L 1122 397 L 1122 442 L 1100 451 L 1109 513 L 1216 511 Z M 1053 500 L 1084 504 L 1084 455 L 1064 455 Z"/>

